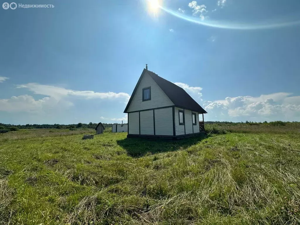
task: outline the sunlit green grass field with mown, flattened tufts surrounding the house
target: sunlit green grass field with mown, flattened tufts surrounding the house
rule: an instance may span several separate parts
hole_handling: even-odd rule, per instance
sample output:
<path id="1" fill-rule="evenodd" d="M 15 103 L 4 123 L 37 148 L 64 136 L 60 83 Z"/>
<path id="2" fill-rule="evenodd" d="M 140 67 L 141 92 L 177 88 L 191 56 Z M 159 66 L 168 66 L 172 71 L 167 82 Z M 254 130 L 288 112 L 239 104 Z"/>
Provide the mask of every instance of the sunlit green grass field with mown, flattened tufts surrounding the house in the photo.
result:
<path id="1" fill-rule="evenodd" d="M 1 134 L 0 224 L 299 224 L 299 125 L 206 128 L 180 141 Z"/>

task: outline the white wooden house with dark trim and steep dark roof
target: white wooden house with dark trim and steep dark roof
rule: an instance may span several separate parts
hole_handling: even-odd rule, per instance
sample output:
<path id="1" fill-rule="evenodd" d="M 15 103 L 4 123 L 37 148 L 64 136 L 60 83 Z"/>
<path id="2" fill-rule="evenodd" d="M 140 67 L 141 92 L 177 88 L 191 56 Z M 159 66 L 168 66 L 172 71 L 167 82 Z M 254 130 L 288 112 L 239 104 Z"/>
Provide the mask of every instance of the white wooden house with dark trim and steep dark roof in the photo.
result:
<path id="1" fill-rule="evenodd" d="M 184 89 L 143 70 L 124 110 L 128 113 L 127 137 L 178 139 L 203 132 L 199 116 L 207 113 Z"/>

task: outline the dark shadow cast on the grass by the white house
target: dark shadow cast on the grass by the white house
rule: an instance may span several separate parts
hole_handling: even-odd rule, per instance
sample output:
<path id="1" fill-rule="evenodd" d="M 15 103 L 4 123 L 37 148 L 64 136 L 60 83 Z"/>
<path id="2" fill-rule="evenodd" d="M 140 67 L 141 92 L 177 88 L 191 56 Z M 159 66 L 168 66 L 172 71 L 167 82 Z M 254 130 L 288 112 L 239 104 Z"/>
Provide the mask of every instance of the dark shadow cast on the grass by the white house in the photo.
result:
<path id="1" fill-rule="evenodd" d="M 180 148 L 187 148 L 209 137 L 202 134 L 196 137 L 185 138 L 182 140 L 165 139 L 143 139 L 143 138 L 125 138 L 117 140 L 117 144 L 122 146 L 132 157 L 141 157 L 143 155 L 155 154 L 159 152 L 172 152 Z"/>

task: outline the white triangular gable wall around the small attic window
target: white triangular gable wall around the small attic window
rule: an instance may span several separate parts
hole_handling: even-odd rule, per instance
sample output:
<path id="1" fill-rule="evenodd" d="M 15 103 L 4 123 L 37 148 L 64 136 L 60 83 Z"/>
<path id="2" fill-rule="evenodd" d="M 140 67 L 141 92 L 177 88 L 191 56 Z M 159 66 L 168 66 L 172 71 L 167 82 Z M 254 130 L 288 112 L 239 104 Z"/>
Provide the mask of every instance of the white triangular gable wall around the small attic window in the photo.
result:
<path id="1" fill-rule="evenodd" d="M 143 88 L 151 87 L 151 100 L 143 101 Z M 153 109 L 165 106 L 174 105 L 170 98 L 164 93 L 164 91 L 158 86 L 158 84 L 145 73 L 137 91 L 128 107 L 127 112 L 134 112 L 139 110 Z M 130 125 L 129 125 L 130 129 Z"/>

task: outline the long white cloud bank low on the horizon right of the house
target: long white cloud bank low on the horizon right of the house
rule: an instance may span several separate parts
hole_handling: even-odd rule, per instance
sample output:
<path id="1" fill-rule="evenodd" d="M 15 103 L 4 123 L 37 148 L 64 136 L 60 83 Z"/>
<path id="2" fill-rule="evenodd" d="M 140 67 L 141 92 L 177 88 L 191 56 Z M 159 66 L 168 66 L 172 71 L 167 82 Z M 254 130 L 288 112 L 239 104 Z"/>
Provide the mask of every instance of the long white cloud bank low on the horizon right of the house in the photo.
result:
<path id="1" fill-rule="evenodd" d="M 259 97 L 239 96 L 207 101 L 203 106 L 208 118 L 217 121 L 300 120 L 300 96 L 278 92 Z"/>

